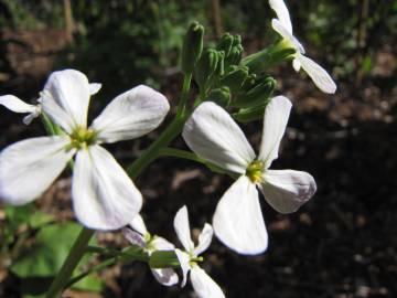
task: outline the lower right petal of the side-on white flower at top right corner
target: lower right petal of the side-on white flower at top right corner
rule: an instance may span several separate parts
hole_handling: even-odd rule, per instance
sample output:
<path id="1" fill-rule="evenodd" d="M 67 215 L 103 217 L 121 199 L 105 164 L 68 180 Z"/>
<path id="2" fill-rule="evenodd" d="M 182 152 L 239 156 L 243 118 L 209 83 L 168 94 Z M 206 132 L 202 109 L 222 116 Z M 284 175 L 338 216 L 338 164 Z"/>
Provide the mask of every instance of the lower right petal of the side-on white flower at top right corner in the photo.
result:
<path id="1" fill-rule="evenodd" d="M 302 68 L 311 77 L 314 85 L 318 86 L 319 89 L 329 94 L 334 94 L 336 92 L 335 82 L 323 67 L 321 67 L 311 58 L 300 54 L 296 56 L 296 60 L 301 63 Z"/>

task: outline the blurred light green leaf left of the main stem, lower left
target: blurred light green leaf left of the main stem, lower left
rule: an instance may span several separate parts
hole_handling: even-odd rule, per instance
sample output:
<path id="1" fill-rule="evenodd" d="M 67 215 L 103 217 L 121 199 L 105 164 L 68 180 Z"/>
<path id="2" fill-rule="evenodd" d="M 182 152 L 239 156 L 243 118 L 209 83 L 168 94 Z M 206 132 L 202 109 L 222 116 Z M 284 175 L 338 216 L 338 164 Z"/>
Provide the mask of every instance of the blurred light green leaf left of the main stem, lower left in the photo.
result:
<path id="1" fill-rule="evenodd" d="M 81 232 L 76 223 L 52 224 L 36 234 L 35 243 L 11 265 L 11 272 L 20 278 L 51 277 L 60 269 Z M 87 258 L 85 258 L 86 262 Z"/>

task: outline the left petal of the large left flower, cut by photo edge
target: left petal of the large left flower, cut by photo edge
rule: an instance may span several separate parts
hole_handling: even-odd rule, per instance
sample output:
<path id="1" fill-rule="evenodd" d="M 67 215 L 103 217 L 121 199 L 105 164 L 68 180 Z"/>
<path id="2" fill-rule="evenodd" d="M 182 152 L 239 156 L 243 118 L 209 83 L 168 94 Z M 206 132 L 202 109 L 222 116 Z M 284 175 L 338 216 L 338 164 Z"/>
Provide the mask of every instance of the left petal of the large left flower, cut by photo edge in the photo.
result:
<path id="1" fill-rule="evenodd" d="M 19 141 L 0 155 L 0 198 L 21 205 L 39 198 L 61 174 L 74 150 L 68 137 L 41 137 Z"/>

